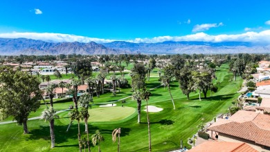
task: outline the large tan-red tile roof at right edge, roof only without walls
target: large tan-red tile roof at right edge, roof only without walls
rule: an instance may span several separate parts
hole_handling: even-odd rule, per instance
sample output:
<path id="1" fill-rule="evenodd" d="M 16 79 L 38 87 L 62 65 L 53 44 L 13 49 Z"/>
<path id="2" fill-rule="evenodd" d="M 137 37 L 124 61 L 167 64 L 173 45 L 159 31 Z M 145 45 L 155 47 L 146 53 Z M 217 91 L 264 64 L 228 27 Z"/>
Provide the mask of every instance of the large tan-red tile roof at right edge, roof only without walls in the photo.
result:
<path id="1" fill-rule="evenodd" d="M 217 121 L 208 130 L 270 146 L 270 115 L 240 110 L 228 120 Z"/>

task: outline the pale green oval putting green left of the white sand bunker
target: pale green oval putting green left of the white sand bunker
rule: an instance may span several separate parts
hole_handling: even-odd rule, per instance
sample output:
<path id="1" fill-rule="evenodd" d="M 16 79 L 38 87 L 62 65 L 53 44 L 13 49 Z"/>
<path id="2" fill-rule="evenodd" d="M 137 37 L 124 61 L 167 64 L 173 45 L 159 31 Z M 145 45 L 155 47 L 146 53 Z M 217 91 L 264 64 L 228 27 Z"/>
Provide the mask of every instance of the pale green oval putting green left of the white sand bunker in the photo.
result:
<path id="1" fill-rule="evenodd" d="M 89 110 L 89 121 L 118 121 L 125 119 L 136 112 L 131 107 L 107 107 Z"/>

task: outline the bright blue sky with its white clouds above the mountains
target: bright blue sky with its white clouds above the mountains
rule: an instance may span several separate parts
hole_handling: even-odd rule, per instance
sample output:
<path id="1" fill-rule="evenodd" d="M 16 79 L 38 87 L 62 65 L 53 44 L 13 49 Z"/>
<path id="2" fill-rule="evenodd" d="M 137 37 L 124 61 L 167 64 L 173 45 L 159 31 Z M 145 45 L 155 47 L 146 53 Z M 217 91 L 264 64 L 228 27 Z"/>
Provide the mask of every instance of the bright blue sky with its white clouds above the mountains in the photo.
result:
<path id="1" fill-rule="evenodd" d="M 266 0 L 1 0 L 0 37 L 159 42 L 228 41 L 236 35 L 253 41 L 255 34 L 260 39 L 254 41 L 269 35 L 270 42 L 269 6 Z"/>

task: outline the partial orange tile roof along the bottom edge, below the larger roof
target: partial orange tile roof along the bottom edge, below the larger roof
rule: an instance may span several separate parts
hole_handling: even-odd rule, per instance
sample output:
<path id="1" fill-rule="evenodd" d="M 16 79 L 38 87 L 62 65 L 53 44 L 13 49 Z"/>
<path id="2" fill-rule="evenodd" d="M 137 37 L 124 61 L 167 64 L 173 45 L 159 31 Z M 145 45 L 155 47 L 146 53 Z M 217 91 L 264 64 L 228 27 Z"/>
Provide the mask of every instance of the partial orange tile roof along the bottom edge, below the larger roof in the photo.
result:
<path id="1" fill-rule="evenodd" d="M 190 149 L 190 152 L 258 152 L 244 142 L 215 142 L 207 141 Z"/>

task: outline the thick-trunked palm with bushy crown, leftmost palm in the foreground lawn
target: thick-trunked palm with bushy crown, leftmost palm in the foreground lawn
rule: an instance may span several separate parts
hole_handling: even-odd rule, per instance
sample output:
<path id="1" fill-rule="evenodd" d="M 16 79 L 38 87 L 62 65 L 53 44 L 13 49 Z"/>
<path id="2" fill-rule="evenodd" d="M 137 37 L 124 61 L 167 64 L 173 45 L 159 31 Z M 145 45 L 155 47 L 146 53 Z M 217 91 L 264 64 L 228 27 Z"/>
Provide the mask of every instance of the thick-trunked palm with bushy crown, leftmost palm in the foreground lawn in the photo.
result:
<path id="1" fill-rule="evenodd" d="M 55 118 L 59 118 L 59 116 L 56 115 L 56 110 L 54 110 L 53 107 L 45 109 L 42 112 L 42 119 L 45 119 L 45 121 L 50 122 L 51 148 L 55 147 L 55 133 L 54 133 Z"/>

